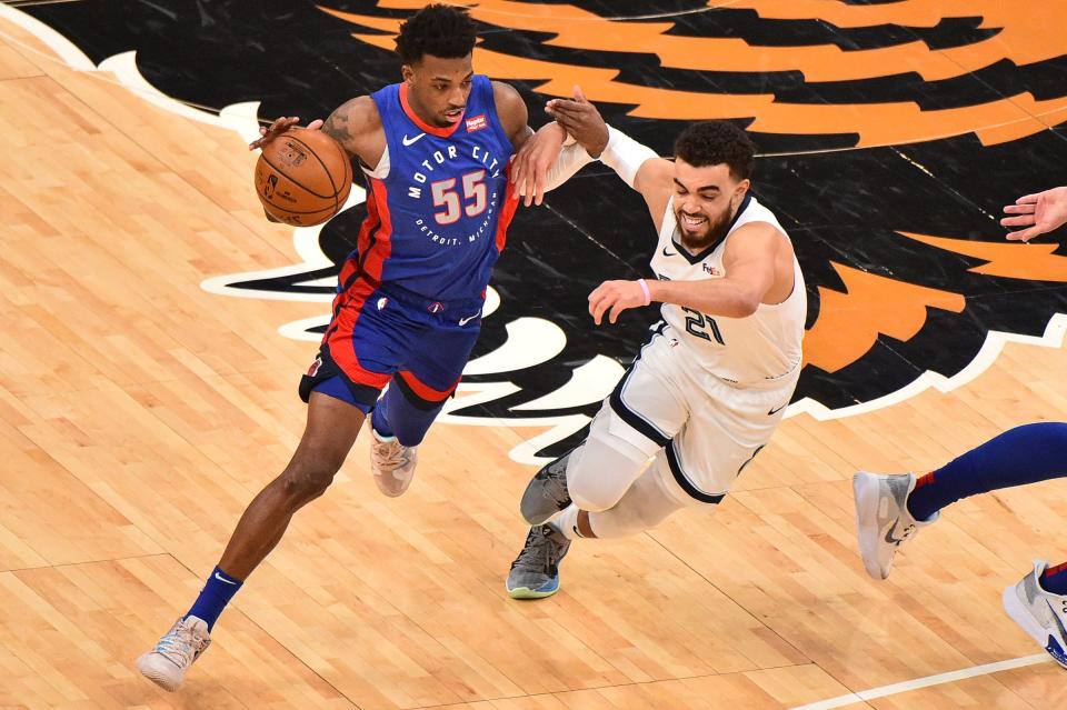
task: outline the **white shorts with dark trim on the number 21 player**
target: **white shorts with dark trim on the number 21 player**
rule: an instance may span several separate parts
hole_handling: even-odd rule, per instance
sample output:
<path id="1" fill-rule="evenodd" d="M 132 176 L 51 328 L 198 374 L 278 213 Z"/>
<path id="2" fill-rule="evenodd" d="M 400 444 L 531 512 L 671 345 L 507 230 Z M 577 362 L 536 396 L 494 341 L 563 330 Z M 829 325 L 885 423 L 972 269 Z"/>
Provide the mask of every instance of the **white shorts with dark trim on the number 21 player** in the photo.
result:
<path id="1" fill-rule="evenodd" d="M 775 431 L 797 387 L 790 376 L 755 387 L 700 367 L 664 326 L 597 413 L 604 428 L 670 471 L 689 498 L 717 503 Z M 664 466 L 666 463 L 666 466 Z"/>

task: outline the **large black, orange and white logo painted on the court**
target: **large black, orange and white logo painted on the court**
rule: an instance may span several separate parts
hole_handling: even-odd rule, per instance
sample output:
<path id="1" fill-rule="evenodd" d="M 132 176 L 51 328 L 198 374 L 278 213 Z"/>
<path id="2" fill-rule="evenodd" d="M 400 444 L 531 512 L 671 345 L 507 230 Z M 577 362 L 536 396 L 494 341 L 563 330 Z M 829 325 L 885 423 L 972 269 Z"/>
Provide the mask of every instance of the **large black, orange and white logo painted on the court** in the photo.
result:
<path id="1" fill-rule="evenodd" d="M 136 51 L 160 94 L 218 109 L 269 97 L 258 114 L 271 118 L 323 117 L 399 80 L 392 50 L 405 12 L 341 4 L 291 9 L 322 40 L 315 70 L 301 69 L 312 50 L 292 41 L 289 16 L 242 18 L 247 41 L 235 42 L 232 28 L 140 4 L 22 11 L 94 64 Z M 1005 339 L 1058 343 L 1067 256 L 1054 243 L 1006 242 L 997 218 L 1019 194 L 1063 181 L 1065 143 L 1048 129 L 1067 121 L 1067 57 L 1061 33 L 1048 28 L 1067 26 L 1067 4 L 975 0 L 945 14 L 921 2 L 737 0 L 634 19 L 608 17 L 606 7 L 479 2 L 475 69 L 512 82 L 535 126 L 547 99 L 579 84 L 609 123 L 660 154 L 697 120 L 750 132 L 761 153 L 754 192 L 789 232 L 808 287 L 805 369 L 790 413 L 831 418 L 950 388 Z M 90 12 L 114 21 L 90 23 Z M 278 67 L 293 74 L 279 81 Z M 465 126 L 481 130 L 483 121 Z M 517 211 L 447 417 L 541 432 L 520 460 L 560 453 L 580 436 L 655 318 L 630 311 L 596 329 L 584 317 L 601 281 L 649 276 L 656 240 L 635 198 L 614 174 L 587 170 L 550 193 L 547 208 Z M 321 302 L 320 316 L 282 324 L 289 337 L 318 340 L 331 280 L 365 214 L 357 203 L 321 229 L 298 230 L 292 267 L 205 287 Z"/>

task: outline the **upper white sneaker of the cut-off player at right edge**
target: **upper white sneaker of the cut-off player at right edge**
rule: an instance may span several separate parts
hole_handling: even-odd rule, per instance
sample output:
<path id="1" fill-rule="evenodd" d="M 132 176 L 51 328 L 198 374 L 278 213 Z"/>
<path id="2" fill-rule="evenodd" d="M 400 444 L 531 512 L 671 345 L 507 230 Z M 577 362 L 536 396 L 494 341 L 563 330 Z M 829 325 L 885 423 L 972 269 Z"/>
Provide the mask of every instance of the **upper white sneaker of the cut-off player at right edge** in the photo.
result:
<path id="1" fill-rule="evenodd" d="M 852 477 L 859 553 L 867 573 L 875 579 L 888 578 L 900 543 L 941 514 L 938 511 L 929 520 L 916 520 L 906 504 L 913 490 L 915 473 L 881 476 L 860 471 Z"/>

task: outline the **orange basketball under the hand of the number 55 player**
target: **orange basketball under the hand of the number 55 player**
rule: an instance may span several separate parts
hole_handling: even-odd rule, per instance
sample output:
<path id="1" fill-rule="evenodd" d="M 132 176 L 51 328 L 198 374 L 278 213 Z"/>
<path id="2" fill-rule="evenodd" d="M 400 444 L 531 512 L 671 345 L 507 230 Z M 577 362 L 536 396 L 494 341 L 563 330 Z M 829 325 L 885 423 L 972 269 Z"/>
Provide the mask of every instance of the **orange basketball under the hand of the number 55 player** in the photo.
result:
<path id="1" fill-rule="evenodd" d="M 341 211 L 351 188 L 348 154 L 322 131 L 291 128 L 266 143 L 256 163 L 259 201 L 287 224 L 321 224 Z"/>

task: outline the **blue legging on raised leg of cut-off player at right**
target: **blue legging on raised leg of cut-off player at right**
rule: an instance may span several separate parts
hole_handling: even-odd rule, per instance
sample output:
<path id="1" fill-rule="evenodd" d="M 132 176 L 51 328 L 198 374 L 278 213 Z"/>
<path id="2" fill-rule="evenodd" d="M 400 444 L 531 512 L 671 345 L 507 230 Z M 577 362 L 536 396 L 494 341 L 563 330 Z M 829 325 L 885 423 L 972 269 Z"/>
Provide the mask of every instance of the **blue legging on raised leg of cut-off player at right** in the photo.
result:
<path id="1" fill-rule="evenodd" d="M 961 498 L 1067 476 L 1067 423 L 1009 429 L 924 476 L 908 496 L 908 511 L 927 520 Z"/>

